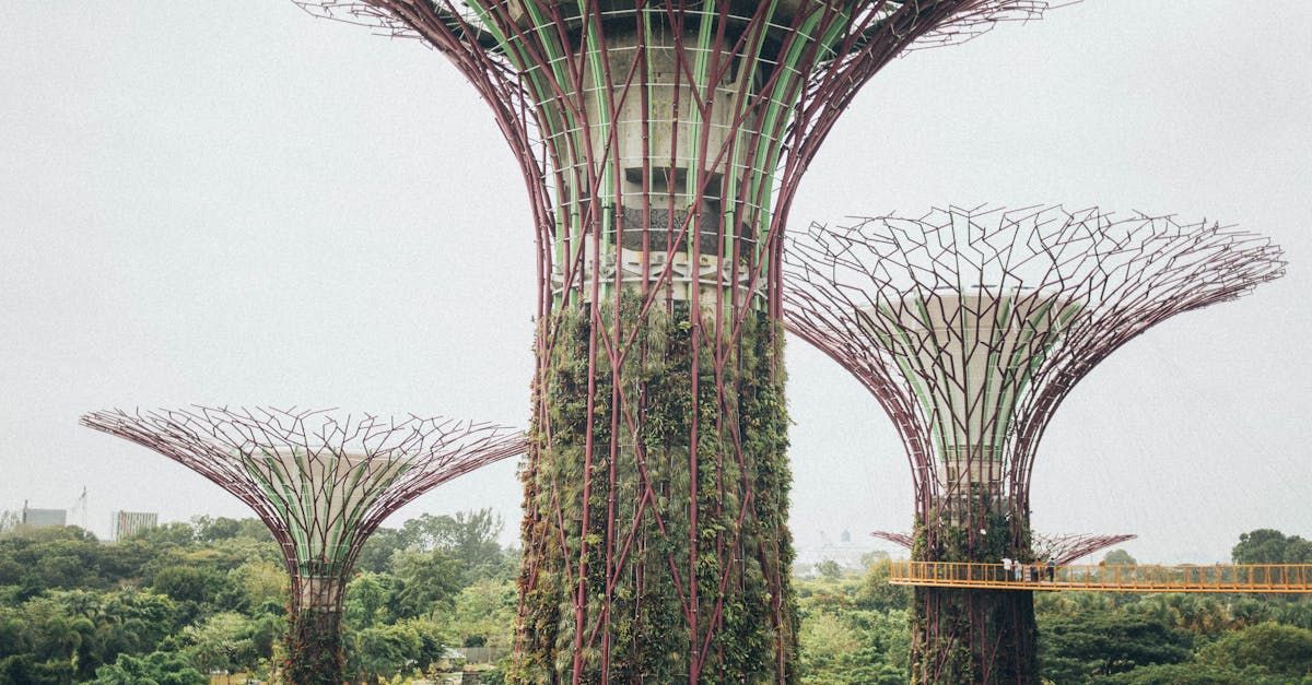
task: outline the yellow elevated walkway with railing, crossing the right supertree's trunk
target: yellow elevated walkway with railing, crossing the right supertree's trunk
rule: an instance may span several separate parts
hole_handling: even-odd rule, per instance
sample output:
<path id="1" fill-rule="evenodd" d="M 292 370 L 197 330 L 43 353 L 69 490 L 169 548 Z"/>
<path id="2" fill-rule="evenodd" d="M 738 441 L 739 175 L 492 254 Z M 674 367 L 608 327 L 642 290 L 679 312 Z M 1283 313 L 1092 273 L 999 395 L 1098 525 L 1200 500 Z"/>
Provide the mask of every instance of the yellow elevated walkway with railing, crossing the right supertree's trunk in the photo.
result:
<path id="1" fill-rule="evenodd" d="M 939 588 L 1094 592 L 1312 593 L 1312 564 L 1035 566 L 892 562 L 888 583 Z"/>

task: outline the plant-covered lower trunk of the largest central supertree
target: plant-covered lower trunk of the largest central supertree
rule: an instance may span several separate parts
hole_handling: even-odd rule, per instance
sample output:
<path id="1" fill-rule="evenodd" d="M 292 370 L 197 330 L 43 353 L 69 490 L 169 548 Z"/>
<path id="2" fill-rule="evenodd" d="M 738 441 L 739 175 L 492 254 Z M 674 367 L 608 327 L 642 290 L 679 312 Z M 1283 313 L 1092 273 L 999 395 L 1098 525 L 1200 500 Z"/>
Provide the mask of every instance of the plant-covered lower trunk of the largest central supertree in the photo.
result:
<path id="1" fill-rule="evenodd" d="M 625 299 L 618 327 L 601 308 L 596 335 L 590 314 L 569 308 L 542 328 L 552 341 L 523 472 L 513 680 L 568 681 L 577 668 L 585 682 L 687 681 L 701 652 L 706 681 L 792 681 L 779 328 L 749 312 L 737 341 L 715 345 L 685 303 L 640 315 Z M 618 367 L 607 336 L 632 340 Z"/>

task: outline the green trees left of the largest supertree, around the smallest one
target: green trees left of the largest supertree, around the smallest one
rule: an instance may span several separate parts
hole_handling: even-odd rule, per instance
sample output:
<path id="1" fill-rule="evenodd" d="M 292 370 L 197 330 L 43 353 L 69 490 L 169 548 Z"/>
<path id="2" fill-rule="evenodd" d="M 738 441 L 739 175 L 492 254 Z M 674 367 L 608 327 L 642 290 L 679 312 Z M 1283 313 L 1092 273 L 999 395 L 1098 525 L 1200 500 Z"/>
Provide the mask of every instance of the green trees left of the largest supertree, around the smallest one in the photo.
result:
<path id="1" fill-rule="evenodd" d="M 348 671 L 377 681 L 450 671 L 447 647 L 505 652 L 518 556 L 497 545 L 500 529 L 475 512 L 379 530 L 348 585 Z M 10 531 L 0 537 L 0 684 L 268 678 L 286 630 L 279 559 L 253 518 L 201 517 L 117 545 L 72 526 Z"/>

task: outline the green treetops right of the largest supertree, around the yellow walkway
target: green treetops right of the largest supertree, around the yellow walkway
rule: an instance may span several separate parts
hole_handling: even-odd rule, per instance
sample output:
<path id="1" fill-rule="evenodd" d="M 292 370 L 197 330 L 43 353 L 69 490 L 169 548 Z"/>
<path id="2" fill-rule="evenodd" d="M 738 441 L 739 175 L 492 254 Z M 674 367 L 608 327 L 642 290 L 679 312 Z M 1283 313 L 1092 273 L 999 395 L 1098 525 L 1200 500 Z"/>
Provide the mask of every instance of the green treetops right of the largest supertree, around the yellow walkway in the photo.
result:
<path id="1" fill-rule="evenodd" d="M 1134 563 L 1124 551 L 1109 563 Z M 1241 535 L 1237 563 L 1312 563 L 1312 543 L 1275 530 Z M 821 564 L 798 583 L 803 682 L 907 682 L 911 592 L 887 566 L 844 575 Z M 1312 597 L 1036 592 L 1046 682 L 1312 684 Z"/>

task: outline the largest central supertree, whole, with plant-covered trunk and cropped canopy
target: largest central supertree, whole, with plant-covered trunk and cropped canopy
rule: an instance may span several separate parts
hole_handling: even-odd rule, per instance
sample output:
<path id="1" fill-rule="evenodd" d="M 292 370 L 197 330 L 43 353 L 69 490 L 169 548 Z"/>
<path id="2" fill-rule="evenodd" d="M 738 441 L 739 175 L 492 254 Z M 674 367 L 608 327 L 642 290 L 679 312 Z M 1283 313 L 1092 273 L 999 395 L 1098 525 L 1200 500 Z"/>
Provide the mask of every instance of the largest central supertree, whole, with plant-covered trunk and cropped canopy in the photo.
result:
<path id="1" fill-rule="evenodd" d="M 492 108 L 538 247 L 521 681 L 790 681 L 781 235 L 858 89 L 1040 0 L 306 0 Z"/>

